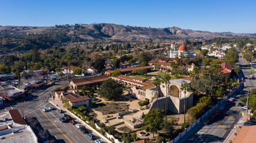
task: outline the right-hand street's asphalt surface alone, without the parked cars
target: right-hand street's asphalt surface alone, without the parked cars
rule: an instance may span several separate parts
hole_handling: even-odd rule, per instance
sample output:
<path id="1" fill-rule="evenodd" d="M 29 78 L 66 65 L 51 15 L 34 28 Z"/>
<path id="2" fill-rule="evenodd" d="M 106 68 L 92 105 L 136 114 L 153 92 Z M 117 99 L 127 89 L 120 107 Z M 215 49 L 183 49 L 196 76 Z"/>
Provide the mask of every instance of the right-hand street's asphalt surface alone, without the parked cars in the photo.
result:
<path id="1" fill-rule="evenodd" d="M 195 130 L 185 142 L 224 142 L 225 138 L 227 138 L 234 128 L 234 124 L 242 118 L 242 112 L 245 113 L 245 109 L 238 105 L 240 102 L 239 98 L 246 96 L 246 91 L 251 87 L 255 87 L 256 81 L 251 79 L 250 74 L 252 73 L 249 71 L 248 67 L 246 67 L 244 59 L 239 58 L 237 64 L 240 65 L 245 76 L 245 88 L 242 94 L 234 95 L 235 100 L 230 105 L 226 105 L 222 113 L 219 114 L 210 125 L 201 125 L 201 128 Z"/>

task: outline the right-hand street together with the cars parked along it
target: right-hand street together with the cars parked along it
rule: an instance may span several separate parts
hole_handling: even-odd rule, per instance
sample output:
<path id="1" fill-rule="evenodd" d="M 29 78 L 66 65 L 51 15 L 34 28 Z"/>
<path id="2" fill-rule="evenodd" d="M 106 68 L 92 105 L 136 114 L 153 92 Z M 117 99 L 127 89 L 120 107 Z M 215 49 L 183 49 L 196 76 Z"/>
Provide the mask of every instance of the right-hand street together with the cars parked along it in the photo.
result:
<path id="1" fill-rule="evenodd" d="M 237 64 L 242 69 L 239 77 L 243 79 L 241 84 L 244 85 L 244 88 L 237 91 L 233 97 L 228 98 L 227 102 L 222 103 L 221 107 L 213 111 L 209 115 L 210 117 L 203 120 L 199 125 L 200 127 L 193 130 L 192 135 L 187 136 L 182 142 L 228 142 L 227 138 L 234 126 L 240 123 L 242 114 L 246 114 L 246 107 L 239 99 L 248 95 L 248 91 L 256 85 L 255 79 L 251 76 L 254 73 L 248 69 L 245 59 L 240 57 Z"/>

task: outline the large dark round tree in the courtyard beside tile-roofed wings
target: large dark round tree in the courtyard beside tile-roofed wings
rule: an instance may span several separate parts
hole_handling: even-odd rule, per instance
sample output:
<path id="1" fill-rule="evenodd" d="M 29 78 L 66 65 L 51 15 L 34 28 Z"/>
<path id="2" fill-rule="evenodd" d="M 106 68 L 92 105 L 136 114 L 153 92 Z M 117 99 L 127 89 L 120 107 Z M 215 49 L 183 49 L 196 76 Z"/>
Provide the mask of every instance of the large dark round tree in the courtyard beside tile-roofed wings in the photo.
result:
<path id="1" fill-rule="evenodd" d="M 122 85 L 116 83 L 115 80 L 112 80 L 112 79 L 104 80 L 104 82 L 102 83 L 98 91 L 98 94 L 101 97 L 112 100 L 123 94 L 123 89 L 121 86 Z"/>

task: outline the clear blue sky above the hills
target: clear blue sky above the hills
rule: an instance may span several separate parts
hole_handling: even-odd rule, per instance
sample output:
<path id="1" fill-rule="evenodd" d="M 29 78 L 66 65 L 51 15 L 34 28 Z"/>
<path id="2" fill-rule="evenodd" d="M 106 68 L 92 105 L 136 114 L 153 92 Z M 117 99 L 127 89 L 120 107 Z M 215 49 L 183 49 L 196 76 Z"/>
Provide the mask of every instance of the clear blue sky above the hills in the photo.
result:
<path id="1" fill-rule="evenodd" d="M 1 0 L 2 26 L 115 23 L 256 33 L 255 0 Z"/>

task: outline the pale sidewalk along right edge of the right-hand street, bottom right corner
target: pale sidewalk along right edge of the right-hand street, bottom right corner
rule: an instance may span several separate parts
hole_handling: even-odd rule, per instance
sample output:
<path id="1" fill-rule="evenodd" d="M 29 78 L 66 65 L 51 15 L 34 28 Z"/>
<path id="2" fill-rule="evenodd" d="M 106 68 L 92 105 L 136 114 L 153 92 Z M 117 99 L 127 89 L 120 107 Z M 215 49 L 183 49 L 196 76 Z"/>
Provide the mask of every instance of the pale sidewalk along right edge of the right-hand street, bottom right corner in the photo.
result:
<path id="1" fill-rule="evenodd" d="M 249 112 L 249 111 L 248 111 L 248 112 Z M 240 130 L 239 126 L 243 126 L 243 125 L 245 124 L 246 120 L 248 119 L 248 117 L 249 117 L 249 114 L 247 114 L 247 115 L 245 114 L 245 115 L 242 117 L 242 119 L 239 120 L 239 122 L 237 122 L 236 127 L 234 127 L 234 129 L 231 130 L 230 134 L 229 134 L 228 137 L 225 139 L 224 143 L 229 142 L 230 140 L 231 140 L 231 141 L 234 141 L 234 138 L 236 138 L 236 135 L 234 135 L 234 133 L 239 133 L 239 130 Z"/>

